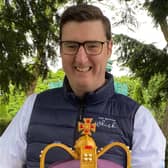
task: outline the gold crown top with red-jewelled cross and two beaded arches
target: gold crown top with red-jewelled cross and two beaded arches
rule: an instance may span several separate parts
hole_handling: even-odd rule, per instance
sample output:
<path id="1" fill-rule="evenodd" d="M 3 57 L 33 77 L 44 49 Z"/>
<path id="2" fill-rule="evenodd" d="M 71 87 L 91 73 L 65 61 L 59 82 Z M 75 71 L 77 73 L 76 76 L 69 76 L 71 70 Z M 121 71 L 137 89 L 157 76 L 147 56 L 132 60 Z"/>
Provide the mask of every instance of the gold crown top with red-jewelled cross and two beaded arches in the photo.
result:
<path id="1" fill-rule="evenodd" d="M 81 136 L 75 141 L 74 150 L 65 144 L 52 143 L 47 145 L 40 154 L 40 168 L 45 168 L 45 157 L 51 148 L 62 148 L 67 151 L 75 160 L 80 160 L 80 168 L 97 168 L 97 160 L 105 152 L 113 147 L 122 148 L 127 156 L 127 167 L 131 167 L 131 151 L 128 146 L 120 142 L 112 142 L 97 150 L 96 142 L 91 137 L 92 132 L 96 131 L 96 123 L 92 123 L 92 118 L 84 118 L 84 123 L 78 122 L 78 131 Z"/>

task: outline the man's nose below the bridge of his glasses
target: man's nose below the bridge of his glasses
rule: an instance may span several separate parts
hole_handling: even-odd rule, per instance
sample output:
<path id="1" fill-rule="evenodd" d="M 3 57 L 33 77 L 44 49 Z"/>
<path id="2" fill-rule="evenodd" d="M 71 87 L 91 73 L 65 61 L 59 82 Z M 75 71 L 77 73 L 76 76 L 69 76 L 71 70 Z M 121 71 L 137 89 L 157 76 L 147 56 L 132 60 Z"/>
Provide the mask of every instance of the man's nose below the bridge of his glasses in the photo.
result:
<path id="1" fill-rule="evenodd" d="M 79 64 L 83 64 L 88 61 L 88 56 L 82 45 L 79 47 L 78 52 L 76 53 L 75 61 Z"/>

